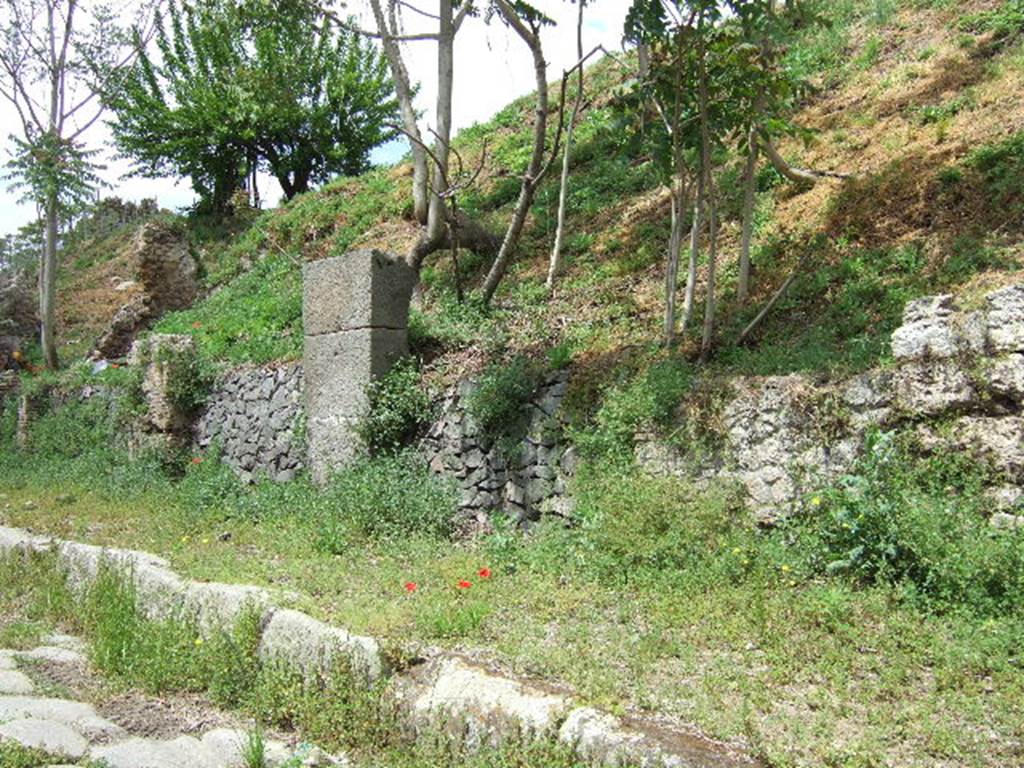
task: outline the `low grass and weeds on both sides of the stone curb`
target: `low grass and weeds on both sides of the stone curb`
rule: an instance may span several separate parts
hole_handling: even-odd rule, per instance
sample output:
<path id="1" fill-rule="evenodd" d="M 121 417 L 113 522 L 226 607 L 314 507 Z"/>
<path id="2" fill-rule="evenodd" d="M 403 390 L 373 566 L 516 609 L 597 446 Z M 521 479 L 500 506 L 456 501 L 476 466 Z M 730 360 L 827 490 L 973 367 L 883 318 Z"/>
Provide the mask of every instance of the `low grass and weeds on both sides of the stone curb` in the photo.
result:
<path id="1" fill-rule="evenodd" d="M 669 383 L 631 385 L 648 393 L 634 396 L 647 404 L 630 423 L 656 423 L 656 392 L 673 391 L 679 374 L 665 365 Z M 527 538 L 499 523 L 481 540 L 453 544 L 444 528 L 453 508 L 438 512 L 451 497 L 424 490 L 427 475 L 402 456 L 355 467 L 323 493 L 301 480 L 243 489 L 229 470 L 203 461 L 157 493 L 93 482 L 71 502 L 40 490 L 45 470 L 14 467 L 3 514 L 66 535 L 87 525 L 99 541 L 170 555 L 195 577 L 315 595 L 307 609 L 390 641 L 489 644 L 596 703 L 646 703 L 714 735 L 742 735 L 782 764 L 899 764 L 896 751 L 919 739 L 937 759 L 1012 764 L 1012 748 L 975 727 L 1010 732 L 1021 715 L 1014 659 L 1024 531 L 985 522 L 984 470 L 965 459 L 921 455 L 898 436 L 869 447 L 848 476 L 805 499 L 805 514 L 769 530 L 750 521 L 728 485 L 651 479 L 617 450 L 582 467 L 577 525 L 548 521 Z M 221 541 L 224 530 L 232 536 Z M 252 625 L 197 645 L 187 624 L 143 627 L 116 609 L 132 600 L 123 583 L 100 580 L 105 597 L 76 606 L 58 583 L 33 588 L 49 595 L 36 603 L 20 577 L 4 575 L 5 594 L 20 595 L 13 600 L 29 620 L 9 635 L 19 642 L 50 611 L 65 612 L 93 638 L 104 669 L 133 685 L 197 686 L 310 733 L 329 734 L 331 723 L 372 733 L 383 722 L 343 680 L 310 685 L 255 670 Z M 45 584 L 38 572 L 30 581 Z M 709 662 L 722 654 L 727 665 Z M 943 685 L 927 686 L 931 676 Z M 850 679 L 862 682 L 807 706 L 815 686 L 840 689 Z M 877 716 L 865 722 L 849 707 Z M 798 728 L 794 708 L 811 731 Z"/>

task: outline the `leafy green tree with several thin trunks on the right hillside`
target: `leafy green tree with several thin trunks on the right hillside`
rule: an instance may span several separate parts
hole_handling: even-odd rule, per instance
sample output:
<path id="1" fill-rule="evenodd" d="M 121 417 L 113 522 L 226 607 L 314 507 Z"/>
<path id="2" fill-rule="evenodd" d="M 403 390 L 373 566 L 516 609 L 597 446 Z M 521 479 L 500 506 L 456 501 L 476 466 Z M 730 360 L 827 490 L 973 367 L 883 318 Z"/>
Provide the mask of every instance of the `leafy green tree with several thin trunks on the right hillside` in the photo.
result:
<path id="1" fill-rule="evenodd" d="M 710 353 L 715 334 L 716 158 L 731 146 L 748 154 L 740 255 L 740 292 L 745 295 L 758 150 L 765 143 L 770 147 L 772 135 L 795 130 L 786 116 L 800 84 L 779 63 L 782 29 L 772 0 L 636 0 L 627 18 L 627 38 L 640 46 L 642 66 L 627 111 L 644 126 L 644 140 L 672 191 L 665 340 L 672 344 L 676 336 L 683 222 L 692 204 L 682 331 L 696 304 L 697 256 L 707 226 L 703 355 Z M 647 120 L 649 104 L 656 120 Z"/>

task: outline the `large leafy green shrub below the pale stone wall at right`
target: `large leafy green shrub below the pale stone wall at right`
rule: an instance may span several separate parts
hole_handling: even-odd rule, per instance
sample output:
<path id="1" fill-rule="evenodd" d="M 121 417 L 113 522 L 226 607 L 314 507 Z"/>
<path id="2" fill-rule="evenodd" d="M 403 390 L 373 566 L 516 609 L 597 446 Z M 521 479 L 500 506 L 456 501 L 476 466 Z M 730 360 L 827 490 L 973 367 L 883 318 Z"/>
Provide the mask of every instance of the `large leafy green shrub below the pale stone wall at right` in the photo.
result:
<path id="1" fill-rule="evenodd" d="M 812 571 L 895 585 L 933 609 L 1024 610 L 1024 532 L 993 529 L 983 473 L 959 455 L 914 458 L 893 434 L 794 521 Z"/>

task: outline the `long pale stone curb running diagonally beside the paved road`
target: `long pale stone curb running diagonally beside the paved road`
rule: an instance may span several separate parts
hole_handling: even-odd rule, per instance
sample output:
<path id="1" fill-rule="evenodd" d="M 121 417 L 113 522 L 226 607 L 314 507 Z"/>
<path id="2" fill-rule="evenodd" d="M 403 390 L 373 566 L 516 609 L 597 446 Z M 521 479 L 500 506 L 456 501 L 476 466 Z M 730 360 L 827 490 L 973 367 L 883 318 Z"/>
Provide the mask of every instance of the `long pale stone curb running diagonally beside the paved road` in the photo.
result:
<path id="1" fill-rule="evenodd" d="M 441 731 L 470 749 L 498 745 L 508 738 L 558 740 L 586 763 L 607 768 L 762 765 L 735 746 L 582 707 L 565 688 L 513 677 L 458 653 L 432 651 L 425 660 L 393 674 L 376 639 L 279 608 L 270 593 L 259 587 L 194 582 L 145 552 L 78 544 L 0 525 L 0 554 L 54 551 L 73 589 L 88 585 L 103 562 L 112 562 L 132 574 L 146 615 L 160 618 L 183 610 L 201 632 L 230 624 L 255 606 L 262 612 L 261 658 L 304 673 L 324 673 L 333 658 L 341 657 L 368 683 L 388 679 L 388 695 L 397 706 L 402 727 L 414 736 Z"/>

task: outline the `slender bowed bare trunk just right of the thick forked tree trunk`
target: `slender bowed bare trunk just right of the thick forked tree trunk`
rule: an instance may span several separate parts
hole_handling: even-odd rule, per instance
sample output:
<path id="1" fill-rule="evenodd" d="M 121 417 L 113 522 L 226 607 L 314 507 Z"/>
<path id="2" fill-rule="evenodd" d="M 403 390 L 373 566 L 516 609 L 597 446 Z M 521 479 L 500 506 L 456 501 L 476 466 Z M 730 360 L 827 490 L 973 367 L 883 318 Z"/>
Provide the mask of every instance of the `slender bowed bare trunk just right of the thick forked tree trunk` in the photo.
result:
<path id="1" fill-rule="evenodd" d="M 534 152 L 529 159 L 529 166 L 522 178 L 522 186 L 519 187 L 519 199 L 516 201 L 515 212 L 512 214 L 512 220 L 505 232 L 505 240 L 502 241 L 501 250 L 495 257 L 490 270 L 483 281 L 483 300 L 485 302 L 490 301 L 502 282 L 502 278 L 505 276 L 512 254 L 519 245 L 519 236 L 522 234 L 526 216 L 529 214 L 529 207 L 534 203 L 534 195 L 547 171 L 544 155 L 548 133 L 548 65 L 544 60 L 541 37 L 536 29 L 531 30 L 525 25 L 506 0 L 495 0 L 495 4 L 502 18 L 529 46 L 529 50 L 534 54 L 537 108 L 534 115 Z"/>

